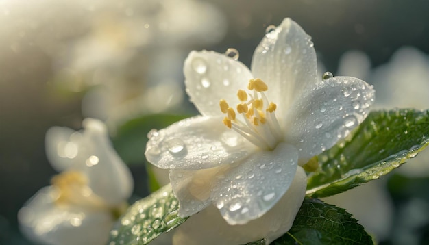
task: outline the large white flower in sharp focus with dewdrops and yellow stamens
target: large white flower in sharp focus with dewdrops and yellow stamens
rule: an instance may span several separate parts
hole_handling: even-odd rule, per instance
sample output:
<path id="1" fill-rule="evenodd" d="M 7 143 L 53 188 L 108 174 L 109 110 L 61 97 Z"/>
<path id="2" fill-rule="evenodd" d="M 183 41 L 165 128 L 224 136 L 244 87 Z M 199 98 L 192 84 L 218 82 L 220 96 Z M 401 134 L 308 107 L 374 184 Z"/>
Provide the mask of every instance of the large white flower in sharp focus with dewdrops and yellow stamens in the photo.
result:
<path id="1" fill-rule="evenodd" d="M 273 218 L 276 227 L 266 222 L 257 228 L 268 241 L 289 230 L 304 198 L 301 175 L 294 183 L 299 188 L 284 195 L 295 173 L 304 175 L 298 165 L 347 136 L 367 116 L 374 96 L 354 77 L 318 81 L 310 36 L 289 18 L 262 39 L 252 73 L 226 55 L 193 51 L 184 75 L 201 116 L 152 132 L 147 159 L 170 169 L 180 216 L 213 203 L 228 224 L 251 224 L 282 196 L 291 200 L 273 216 L 284 222 Z"/>

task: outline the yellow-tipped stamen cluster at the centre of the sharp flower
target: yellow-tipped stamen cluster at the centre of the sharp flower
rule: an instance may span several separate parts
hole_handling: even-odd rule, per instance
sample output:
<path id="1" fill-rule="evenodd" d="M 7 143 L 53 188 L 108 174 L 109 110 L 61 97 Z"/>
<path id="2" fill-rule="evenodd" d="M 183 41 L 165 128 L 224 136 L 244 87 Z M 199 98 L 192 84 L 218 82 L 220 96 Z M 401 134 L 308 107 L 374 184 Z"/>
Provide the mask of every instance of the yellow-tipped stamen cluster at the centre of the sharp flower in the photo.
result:
<path id="1" fill-rule="evenodd" d="M 264 94 L 268 86 L 259 78 L 250 79 L 247 90 L 249 92 L 238 90 L 237 96 L 241 103 L 236 105 L 236 110 L 225 99 L 219 101 L 221 112 L 226 114 L 223 124 L 261 149 L 275 149 L 282 140 L 282 131 L 275 118 L 277 105 L 269 102 Z M 243 120 L 239 120 L 236 114 L 241 114 Z"/>

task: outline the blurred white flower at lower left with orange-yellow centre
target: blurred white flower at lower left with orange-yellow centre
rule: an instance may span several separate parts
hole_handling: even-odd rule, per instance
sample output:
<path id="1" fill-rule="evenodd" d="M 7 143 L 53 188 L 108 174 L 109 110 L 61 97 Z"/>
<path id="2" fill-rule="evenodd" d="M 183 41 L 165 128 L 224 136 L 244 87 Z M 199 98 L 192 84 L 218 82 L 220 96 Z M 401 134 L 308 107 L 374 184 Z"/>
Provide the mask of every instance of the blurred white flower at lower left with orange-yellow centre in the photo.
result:
<path id="1" fill-rule="evenodd" d="M 19 211 L 21 231 L 40 244 L 106 244 L 133 181 L 112 149 L 106 126 L 85 119 L 84 130 L 52 127 L 47 157 L 60 172 Z"/>

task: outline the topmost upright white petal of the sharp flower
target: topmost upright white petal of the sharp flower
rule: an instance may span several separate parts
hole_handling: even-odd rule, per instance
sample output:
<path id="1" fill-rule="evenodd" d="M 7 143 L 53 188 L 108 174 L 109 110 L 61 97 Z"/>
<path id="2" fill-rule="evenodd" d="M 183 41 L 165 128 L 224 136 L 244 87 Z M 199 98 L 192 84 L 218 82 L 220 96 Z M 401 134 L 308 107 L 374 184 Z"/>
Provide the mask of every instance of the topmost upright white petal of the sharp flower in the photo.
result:
<path id="1" fill-rule="evenodd" d="M 316 52 L 310 36 L 290 18 L 265 34 L 252 59 L 252 73 L 268 85 L 269 100 L 285 115 L 308 86 L 317 83 Z"/>

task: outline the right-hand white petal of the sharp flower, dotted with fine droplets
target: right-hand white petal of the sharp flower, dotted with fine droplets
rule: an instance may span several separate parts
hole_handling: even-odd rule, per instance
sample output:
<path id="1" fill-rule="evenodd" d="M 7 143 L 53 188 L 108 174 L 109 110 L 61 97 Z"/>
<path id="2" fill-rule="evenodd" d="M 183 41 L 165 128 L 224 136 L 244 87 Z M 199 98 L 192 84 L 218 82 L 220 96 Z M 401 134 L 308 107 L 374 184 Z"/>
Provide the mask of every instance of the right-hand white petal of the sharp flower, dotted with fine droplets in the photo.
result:
<path id="1" fill-rule="evenodd" d="M 308 90 L 286 116 L 287 142 L 299 149 L 299 164 L 334 146 L 369 113 L 374 90 L 354 77 L 332 77 Z"/>

